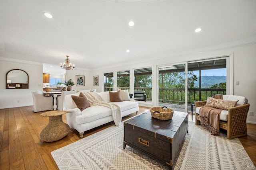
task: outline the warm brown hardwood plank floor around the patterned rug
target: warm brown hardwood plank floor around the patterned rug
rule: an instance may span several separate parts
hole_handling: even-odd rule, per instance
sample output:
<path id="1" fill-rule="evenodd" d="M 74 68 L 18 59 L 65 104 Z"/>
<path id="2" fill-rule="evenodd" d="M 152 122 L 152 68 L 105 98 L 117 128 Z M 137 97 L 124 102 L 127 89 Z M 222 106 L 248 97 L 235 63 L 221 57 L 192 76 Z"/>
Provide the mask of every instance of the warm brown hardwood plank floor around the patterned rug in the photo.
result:
<path id="1" fill-rule="evenodd" d="M 140 107 L 138 113 L 148 110 L 147 107 Z M 40 116 L 41 113 L 43 112 L 34 113 L 32 106 L 0 109 L 0 170 L 58 170 L 51 152 L 80 140 L 74 129 L 56 142 L 46 143 L 40 140 L 40 132 L 48 124 L 48 117 Z M 136 113 L 132 113 L 122 121 L 135 115 Z M 66 122 L 65 115 L 63 121 Z M 113 125 L 111 122 L 86 131 L 84 137 Z M 248 135 L 239 139 L 256 165 L 256 125 L 248 124 Z"/>

